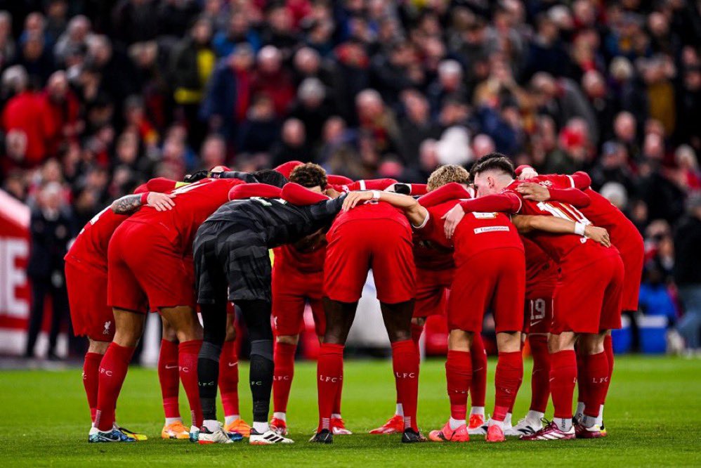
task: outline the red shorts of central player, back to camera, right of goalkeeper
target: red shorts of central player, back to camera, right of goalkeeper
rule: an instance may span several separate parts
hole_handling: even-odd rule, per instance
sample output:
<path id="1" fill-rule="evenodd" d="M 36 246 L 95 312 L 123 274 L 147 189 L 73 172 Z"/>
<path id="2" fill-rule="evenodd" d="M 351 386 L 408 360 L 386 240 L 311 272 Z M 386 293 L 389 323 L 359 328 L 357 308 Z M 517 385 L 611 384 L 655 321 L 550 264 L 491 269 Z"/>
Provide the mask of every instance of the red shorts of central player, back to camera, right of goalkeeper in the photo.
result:
<path id="1" fill-rule="evenodd" d="M 324 285 L 329 299 L 356 302 L 372 268 L 377 299 L 398 304 L 414 298 L 412 233 L 391 219 L 346 221 L 329 235 Z"/>

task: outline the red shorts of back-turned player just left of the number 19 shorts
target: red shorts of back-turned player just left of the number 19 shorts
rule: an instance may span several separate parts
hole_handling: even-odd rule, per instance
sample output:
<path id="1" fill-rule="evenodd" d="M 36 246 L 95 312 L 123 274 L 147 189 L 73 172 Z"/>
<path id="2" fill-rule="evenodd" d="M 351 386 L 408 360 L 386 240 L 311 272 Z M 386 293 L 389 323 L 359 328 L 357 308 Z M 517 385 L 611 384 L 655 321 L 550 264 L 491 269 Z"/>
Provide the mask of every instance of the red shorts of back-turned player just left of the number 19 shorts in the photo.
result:
<path id="1" fill-rule="evenodd" d="M 456 261 L 448 299 L 448 329 L 481 332 L 487 308 L 495 329 L 517 332 L 523 327 L 525 257 L 523 250 L 488 249 Z"/>

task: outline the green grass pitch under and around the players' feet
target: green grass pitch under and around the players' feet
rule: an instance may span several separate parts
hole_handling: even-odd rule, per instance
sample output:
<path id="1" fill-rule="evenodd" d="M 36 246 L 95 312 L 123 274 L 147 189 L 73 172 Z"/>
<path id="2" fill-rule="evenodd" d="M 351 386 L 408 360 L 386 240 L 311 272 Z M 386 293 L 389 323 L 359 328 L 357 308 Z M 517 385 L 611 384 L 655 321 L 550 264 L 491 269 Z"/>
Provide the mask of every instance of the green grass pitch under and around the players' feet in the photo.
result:
<path id="1" fill-rule="evenodd" d="M 490 360 L 490 382 L 494 379 Z M 518 396 L 515 418 L 530 398 L 530 360 Z M 162 441 L 160 391 L 155 370 L 132 368 L 117 415 L 149 441 L 89 444 L 89 412 L 80 370 L 0 372 L 0 460 L 9 465 L 145 466 L 701 466 L 701 361 L 622 356 L 606 404 L 608 438 L 598 441 L 487 444 L 424 443 L 406 446 L 399 436 L 370 436 L 394 409 L 391 363 L 349 360 L 345 369 L 343 416 L 353 436 L 336 437 L 331 446 L 307 443 L 315 428 L 315 364 L 298 363 L 288 421 L 293 446 L 254 447 L 247 443 L 200 447 L 188 441 Z M 250 420 L 250 394 L 242 368 L 242 412 Z M 487 410 L 493 404 L 487 391 Z M 181 390 L 181 408 L 185 398 Z M 442 360 L 421 368 L 419 424 L 428 432 L 448 416 Z M 186 422 L 187 424 L 187 422 Z M 244 439 L 245 440 L 245 439 Z"/>

